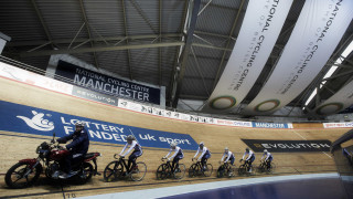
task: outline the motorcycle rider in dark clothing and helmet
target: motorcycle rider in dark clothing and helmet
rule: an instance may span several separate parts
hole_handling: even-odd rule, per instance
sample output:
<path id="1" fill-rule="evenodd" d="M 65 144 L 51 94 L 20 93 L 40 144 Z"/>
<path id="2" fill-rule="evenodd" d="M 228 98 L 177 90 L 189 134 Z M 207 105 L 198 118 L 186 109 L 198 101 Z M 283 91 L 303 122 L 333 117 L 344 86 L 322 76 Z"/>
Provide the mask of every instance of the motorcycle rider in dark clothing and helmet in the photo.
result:
<path id="1" fill-rule="evenodd" d="M 71 135 L 58 138 L 57 143 L 65 144 L 71 139 L 73 139 L 73 142 L 66 145 L 66 149 L 69 150 L 71 154 L 65 157 L 64 172 L 58 176 L 62 179 L 69 178 L 77 174 L 77 171 L 72 170 L 72 165 L 82 161 L 88 151 L 89 138 L 88 133 L 85 129 L 85 124 L 83 122 L 78 121 L 77 123 L 75 123 L 75 132 Z"/>

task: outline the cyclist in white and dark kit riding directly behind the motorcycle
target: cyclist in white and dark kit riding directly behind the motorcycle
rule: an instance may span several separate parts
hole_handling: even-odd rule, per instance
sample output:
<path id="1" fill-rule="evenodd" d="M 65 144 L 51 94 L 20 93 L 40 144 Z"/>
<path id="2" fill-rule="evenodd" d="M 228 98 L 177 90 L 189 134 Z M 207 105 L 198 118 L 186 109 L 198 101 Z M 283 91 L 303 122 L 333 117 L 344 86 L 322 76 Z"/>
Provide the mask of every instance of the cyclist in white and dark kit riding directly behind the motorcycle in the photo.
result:
<path id="1" fill-rule="evenodd" d="M 142 147 L 140 144 L 138 144 L 136 142 L 136 138 L 132 135 L 128 135 L 127 136 L 127 144 L 125 145 L 125 147 L 122 148 L 122 150 L 120 151 L 119 156 L 120 157 L 125 157 L 126 155 L 128 155 L 132 149 L 132 154 L 129 156 L 129 160 L 128 160 L 128 170 L 127 174 L 129 174 L 130 171 L 132 171 L 133 169 L 136 169 L 136 159 L 138 157 L 140 157 L 143 153 L 142 153 Z M 125 149 L 130 146 L 130 148 L 124 154 Z M 131 166 L 132 164 L 132 166 Z M 130 167 L 131 166 L 131 167 Z"/>

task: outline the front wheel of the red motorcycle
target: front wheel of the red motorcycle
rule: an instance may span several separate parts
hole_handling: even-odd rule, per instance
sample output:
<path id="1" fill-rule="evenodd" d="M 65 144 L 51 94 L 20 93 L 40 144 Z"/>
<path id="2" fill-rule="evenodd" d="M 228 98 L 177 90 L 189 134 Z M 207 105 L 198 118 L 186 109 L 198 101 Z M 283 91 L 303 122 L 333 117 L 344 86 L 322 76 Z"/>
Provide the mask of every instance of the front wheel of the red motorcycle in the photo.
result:
<path id="1" fill-rule="evenodd" d="M 29 172 L 26 175 L 26 172 Z M 12 189 L 21 189 L 32 186 L 42 172 L 42 166 L 38 165 L 31 171 L 30 164 L 18 163 L 13 165 L 7 172 L 4 181 Z"/>

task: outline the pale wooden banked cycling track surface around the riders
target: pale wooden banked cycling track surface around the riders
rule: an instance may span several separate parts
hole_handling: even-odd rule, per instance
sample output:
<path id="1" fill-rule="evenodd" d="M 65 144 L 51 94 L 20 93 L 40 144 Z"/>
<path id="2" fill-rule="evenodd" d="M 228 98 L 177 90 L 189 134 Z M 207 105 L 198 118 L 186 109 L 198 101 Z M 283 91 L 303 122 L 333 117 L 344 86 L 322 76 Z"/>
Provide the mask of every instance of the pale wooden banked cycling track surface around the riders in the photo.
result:
<path id="1" fill-rule="evenodd" d="M 216 125 L 205 125 L 168 119 L 157 116 L 145 115 L 117 107 L 81 100 L 52 91 L 39 88 L 32 85 L 0 77 L 0 101 L 7 101 L 29 106 L 34 106 L 54 112 L 61 112 L 82 117 L 88 117 L 109 123 L 158 129 L 164 132 L 190 134 L 197 143 L 204 142 L 212 151 L 210 163 L 216 169 L 225 146 L 234 151 L 236 159 L 239 159 L 246 145 L 240 140 L 248 139 L 329 139 L 335 140 L 347 132 L 344 128 L 323 129 L 321 124 L 295 124 L 295 129 L 266 129 L 266 128 L 238 128 Z M 117 181 L 105 182 L 101 176 L 94 177 L 86 185 L 53 185 L 46 179 L 26 189 L 9 189 L 4 185 L 6 171 L 19 159 L 34 158 L 36 146 L 49 139 L 47 136 L 35 136 L 11 132 L 0 132 L 0 198 L 30 197 L 30 198 L 72 198 L 92 196 L 98 193 L 119 192 L 138 189 L 150 189 L 169 186 L 180 186 L 190 184 L 201 184 L 215 180 L 215 170 L 208 178 L 189 178 L 176 180 L 157 180 L 154 171 L 161 164 L 160 158 L 164 156 L 167 149 L 145 148 L 143 156 L 139 158 L 148 166 L 148 174 L 142 181 Z M 352 145 L 352 142 L 345 145 Z M 99 151 L 103 157 L 98 158 L 98 170 L 103 171 L 105 166 L 113 160 L 113 155 L 121 150 L 121 145 L 109 145 L 92 142 L 89 151 Z M 181 160 L 186 168 L 191 165 L 194 151 L 185 151 L 185 158 Z M 258 165 L 260 154 L 256 154 L 254 164 Z M 274 153 L 277 170 L 275 175 L 298 175 L 309 172 L 334 172 L 338 167 L 331 154 L 325 153 Z M 236 166 L 239 164 L 236 161 Z M 255 175 L 252 177 L 259 177 Z M 233 179 L 240 178 L 235 177 Z"/>

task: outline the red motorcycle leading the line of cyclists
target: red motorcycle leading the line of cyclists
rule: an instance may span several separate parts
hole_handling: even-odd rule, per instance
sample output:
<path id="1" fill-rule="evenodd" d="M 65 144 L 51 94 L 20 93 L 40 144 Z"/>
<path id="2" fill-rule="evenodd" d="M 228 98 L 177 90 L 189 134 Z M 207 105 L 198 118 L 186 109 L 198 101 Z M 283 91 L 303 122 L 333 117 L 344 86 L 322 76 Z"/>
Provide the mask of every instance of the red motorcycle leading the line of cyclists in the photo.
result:
<path id="1" fill-rule="evenodd" d="M 45 176 L 50 179 L 57 180 L 58 176 L 63 174 L 64 158 L 69 155 L 69 150 L 64 147 L 55 145 L 55 133 L 53 139 L 50 143 L 42 143 L 38 146 L 38 158 L 21 159 L 18 164 L 13 165 L 6 174 L 6 184 L 10 188 L 26 188 L 32 186 L 43 171 L 43 165 L 45 165 Z M 81 184 L 87 182 L 92 176 L 100 175 L 97 171 L 97 157 L 101 156 L 99 153 L 88 153 L 84 159 L 77 164 L 72 165 L 76 175 L 71 178 L 77 178 Z M 94 163 L 93 168 L 90 161 Z"/>

